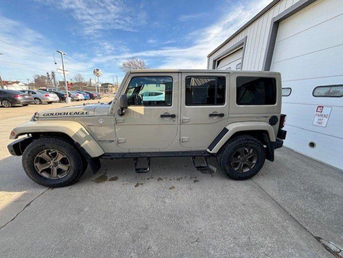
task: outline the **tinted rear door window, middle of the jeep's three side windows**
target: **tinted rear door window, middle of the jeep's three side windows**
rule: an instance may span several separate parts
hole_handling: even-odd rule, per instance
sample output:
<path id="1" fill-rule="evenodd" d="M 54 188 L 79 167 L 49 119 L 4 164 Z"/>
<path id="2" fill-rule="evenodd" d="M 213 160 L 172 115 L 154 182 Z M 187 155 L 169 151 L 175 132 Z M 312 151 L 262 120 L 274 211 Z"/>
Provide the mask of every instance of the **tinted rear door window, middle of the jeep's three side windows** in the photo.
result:
<path id="1" fill-rule="evenodd" d="M 186 77 L 186 105 L 224 105 L 225 77 Z"/>

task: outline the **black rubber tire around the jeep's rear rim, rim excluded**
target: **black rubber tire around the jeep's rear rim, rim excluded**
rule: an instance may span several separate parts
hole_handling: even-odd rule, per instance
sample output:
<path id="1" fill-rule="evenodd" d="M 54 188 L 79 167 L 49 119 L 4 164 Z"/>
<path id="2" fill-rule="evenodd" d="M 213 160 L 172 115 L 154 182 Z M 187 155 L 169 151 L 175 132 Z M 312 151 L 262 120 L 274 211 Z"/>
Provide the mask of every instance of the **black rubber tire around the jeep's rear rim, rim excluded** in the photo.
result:
<path id="1" fill-rule="evenodd" d="M 237 172 L 232 164 L 231 159 L 237 150 L 245 147 L 253 149 L 257 155 L 255 165 L 247 172 Z M 221 171 L 231 179 L 244 180 L 255 176 L 262 168 L 265 161 L 265 150 L 263 144 L 252 136 L 239 136 L 228 142 L 221 153 L 217 156 L 218 166 Z"/>

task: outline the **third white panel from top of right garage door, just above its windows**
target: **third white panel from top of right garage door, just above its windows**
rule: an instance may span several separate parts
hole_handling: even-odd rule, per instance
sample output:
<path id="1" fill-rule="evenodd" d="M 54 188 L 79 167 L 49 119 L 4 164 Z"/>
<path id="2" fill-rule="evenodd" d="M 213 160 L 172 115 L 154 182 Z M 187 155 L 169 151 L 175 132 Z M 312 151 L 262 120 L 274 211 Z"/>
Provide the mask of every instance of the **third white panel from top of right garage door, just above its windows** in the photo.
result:
<path id="1" fill-rule="evenodd" d="M 271 70 L 281 72 L 283 81 L 343 75 L 343 45 L 281 62 Z"/>

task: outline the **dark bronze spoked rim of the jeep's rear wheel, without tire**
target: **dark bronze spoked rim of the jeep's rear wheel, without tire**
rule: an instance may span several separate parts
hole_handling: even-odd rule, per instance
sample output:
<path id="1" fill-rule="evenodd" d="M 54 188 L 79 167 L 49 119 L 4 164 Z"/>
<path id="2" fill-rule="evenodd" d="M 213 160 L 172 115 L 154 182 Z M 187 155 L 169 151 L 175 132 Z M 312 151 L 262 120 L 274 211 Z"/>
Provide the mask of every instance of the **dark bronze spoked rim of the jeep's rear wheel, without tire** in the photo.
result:
<path id="1" fill-rule="evenodd" d="M 230 165 L 238 173 L 250 171 L 257 163 L 257 153 L 249 147 L 237 149 L 231 156 Z"/>

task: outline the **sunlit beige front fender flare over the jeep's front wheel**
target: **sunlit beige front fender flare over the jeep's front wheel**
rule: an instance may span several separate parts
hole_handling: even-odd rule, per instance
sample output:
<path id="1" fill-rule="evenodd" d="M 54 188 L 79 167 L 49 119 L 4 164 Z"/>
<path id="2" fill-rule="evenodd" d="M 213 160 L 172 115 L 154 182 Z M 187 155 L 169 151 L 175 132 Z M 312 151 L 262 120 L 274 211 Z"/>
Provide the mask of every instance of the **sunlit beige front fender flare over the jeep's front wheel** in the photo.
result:
<path id="1" fill-rule="evenodd" d="M 54 132 L 67 134 L 73 141 L 79 144 L 91 157 L 99 157 L 105 152 L 91 136 L 91 134 L 78 122 L 75 121 L 29 121 L 15 127 L 10 139 L 17 139 L 23 134 Z"/>

